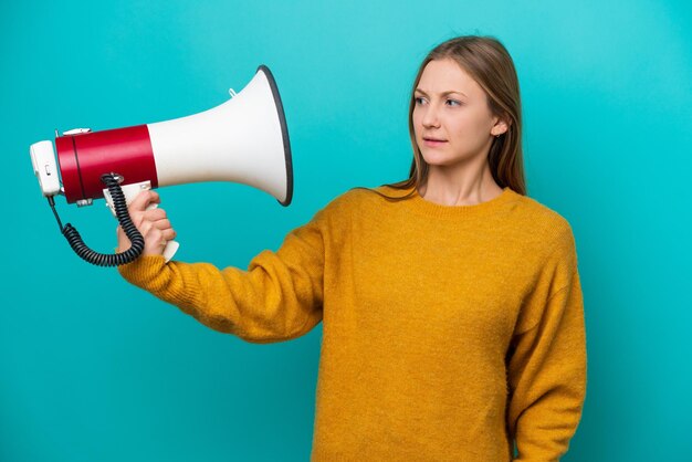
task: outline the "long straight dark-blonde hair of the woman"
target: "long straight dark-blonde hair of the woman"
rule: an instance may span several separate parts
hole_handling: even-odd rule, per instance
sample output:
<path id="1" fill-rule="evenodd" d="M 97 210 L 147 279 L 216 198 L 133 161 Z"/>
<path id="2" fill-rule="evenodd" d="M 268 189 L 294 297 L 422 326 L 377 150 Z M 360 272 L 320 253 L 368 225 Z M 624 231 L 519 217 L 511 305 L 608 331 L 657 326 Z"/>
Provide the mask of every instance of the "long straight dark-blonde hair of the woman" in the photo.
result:
<path id="1" fill-rule="evenodd" d="M 413 148 L 413 161 L 409 178 L 384 185 L 395 189 L 419 188 L 427 179 L 429 166 L 423 159 L 413 132 L 415 91 L 423 70 L 430 61 L 454 60 L 487 95 L 487 105 L 494 116 L 507 122 L 508 128 L 493 138 L 487 162 L 493 179 L 501 188 L 508 186 L 515 192 L 526 195 L 524 160 L 522 154 L 522 104 L 518 78 L 514 62 L 504 45 L 493 36 L 462 35 L 437 45 L 422 61 L 413 81 L 409 101 L 409 136 Z M 377 191 L 376 191 L 377 192 Z M 413 190 L 410 195 L 413 193 Z M 410 196 L 409 195 L 409 196 Z M 389 198 L 389 199 L 405 199 Z"/>

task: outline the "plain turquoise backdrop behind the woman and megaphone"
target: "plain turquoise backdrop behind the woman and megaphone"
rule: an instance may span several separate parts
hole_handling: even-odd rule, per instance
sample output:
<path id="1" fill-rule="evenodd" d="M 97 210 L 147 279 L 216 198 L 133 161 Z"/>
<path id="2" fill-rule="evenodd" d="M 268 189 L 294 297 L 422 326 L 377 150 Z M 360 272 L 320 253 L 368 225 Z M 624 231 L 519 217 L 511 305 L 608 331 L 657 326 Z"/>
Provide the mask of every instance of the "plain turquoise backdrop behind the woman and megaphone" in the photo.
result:
<path id="1" fill-rule="evenodd" d="M 178 258 L 247 267 L 353 186 L 402 179 L 418 64 L 457 34 L 514 57 L 530 196 L 573 225 L 588 392 L 565 461 L 692 453 L 692 10 L 685 1 L 28 1 L 0 6 L 0 460 L 304 461 L 322 326 L 254 345 L 78 260 L 29 145 L 180 117 L 276 77 L 293 204 L 242 185 L 159 190 Z M 64 221 L 115 246 L 103 201 Z"/>

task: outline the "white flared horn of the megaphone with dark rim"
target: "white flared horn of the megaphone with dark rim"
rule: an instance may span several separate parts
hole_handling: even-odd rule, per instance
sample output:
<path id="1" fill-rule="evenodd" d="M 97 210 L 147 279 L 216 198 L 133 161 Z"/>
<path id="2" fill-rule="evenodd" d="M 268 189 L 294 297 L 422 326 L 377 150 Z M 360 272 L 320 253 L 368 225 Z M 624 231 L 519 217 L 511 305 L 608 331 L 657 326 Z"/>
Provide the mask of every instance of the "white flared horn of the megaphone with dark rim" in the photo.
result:
<path id="1" fill-rule="evenodd" d="M 264 72 L 217 107 L 147 126 L 159 187 L 233 181 L 286 200 L 286 147 Z"/>

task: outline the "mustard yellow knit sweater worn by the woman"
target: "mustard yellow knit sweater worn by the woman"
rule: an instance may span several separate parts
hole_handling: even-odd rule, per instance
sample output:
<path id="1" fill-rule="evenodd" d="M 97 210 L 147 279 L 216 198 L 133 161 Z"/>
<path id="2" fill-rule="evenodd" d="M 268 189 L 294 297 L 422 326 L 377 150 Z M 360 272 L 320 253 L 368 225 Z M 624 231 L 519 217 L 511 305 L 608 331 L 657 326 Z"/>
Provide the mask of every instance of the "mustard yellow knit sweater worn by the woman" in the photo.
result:
<path id="1" fill-rule="evenodd" d="M 146 256 L 120 273 L 248 342 L 322 322 L 313 461 L 557 461 L 581 416 L 572 228 L 510 188 L 460 207 L 353 189 L 247 271 Z"/>

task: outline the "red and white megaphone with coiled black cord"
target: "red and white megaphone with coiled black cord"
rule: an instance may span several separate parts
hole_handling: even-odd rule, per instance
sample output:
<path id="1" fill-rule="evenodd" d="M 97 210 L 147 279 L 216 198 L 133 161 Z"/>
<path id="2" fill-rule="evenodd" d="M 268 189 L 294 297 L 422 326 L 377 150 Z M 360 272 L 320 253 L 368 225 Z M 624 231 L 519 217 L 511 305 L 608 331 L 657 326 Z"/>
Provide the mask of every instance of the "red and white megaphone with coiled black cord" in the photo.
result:
<path id="1" fill-rule="evenodd" d="M 50 140 L 31 145 L 31 161 L 41 191 L 61 232 L 82 259 L 115 266 L 139 256 L 144 240 L 129 220 L 127 203 L 143 189 L 231 181 L 263 190 L 282 206 L 291 203 L 289 130 L 271 71 L 260 65 L 241 92 L 229 93 L 231 98 L 219 106 L 171 120 L 101 132 L 56 132 L 57 164 Z M 133 246 L 118 254 L 88 249 L 72 225 L 62 225 L 55 211 L 56 195 L 64 195 L 67 203 L 77 206 L 105 198 Z M 177 249 L 176 242 L 167 243 L 166 261 Z"/>

